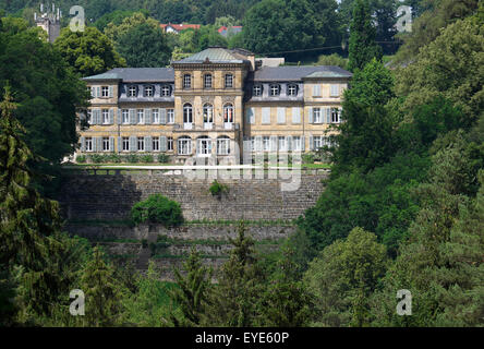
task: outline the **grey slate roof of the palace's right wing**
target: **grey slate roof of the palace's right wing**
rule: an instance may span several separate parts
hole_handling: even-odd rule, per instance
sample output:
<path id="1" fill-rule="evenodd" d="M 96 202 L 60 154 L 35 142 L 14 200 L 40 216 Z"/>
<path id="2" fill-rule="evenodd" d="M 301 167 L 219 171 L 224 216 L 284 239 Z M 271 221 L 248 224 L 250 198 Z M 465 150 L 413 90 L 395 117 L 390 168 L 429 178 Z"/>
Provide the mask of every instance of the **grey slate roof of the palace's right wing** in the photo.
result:
<path id="1" fill-rule="evenodd" d="M 351 77 L 352 74 L 335 65 L 262 67 L 254 73 L 254 81 L 301 81 L 304 77 Z"/>

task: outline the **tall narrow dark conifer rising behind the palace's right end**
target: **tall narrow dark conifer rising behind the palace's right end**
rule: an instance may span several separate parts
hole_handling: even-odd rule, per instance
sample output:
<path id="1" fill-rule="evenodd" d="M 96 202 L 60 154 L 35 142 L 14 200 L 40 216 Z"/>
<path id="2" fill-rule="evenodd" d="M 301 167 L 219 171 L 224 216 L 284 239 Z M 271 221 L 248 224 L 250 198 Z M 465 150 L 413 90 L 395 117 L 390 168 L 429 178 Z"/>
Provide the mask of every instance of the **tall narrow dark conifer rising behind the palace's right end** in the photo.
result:
<path id="1" fill-rule="evenodd" d="M 367 0 L 356 0 L 350 25 L 350 46 L 348 69 L 363 69 L 373 58 L 382 59 L 382 48 L 376 44 L 376 28 Z"/>

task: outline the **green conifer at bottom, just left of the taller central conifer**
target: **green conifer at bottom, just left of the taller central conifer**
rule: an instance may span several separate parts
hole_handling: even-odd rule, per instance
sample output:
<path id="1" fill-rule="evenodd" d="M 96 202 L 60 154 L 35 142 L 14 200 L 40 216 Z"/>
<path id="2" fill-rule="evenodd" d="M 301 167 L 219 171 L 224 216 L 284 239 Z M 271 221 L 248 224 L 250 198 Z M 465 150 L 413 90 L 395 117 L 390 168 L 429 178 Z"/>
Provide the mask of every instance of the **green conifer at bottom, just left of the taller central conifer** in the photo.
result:
<path id="1" fill-rule="evenodd" d="M 182 318 L 172 315 L 171 321 L 177 326 L 197 326 L 206 306 L 210 290 L 213 270 L 202 264 L 199 252 L 192 249 L 187 261 L 183 264 L 186 276 L 174 269 L 178 288 L 170 292 L 171 299 L 180 306 Z"/>

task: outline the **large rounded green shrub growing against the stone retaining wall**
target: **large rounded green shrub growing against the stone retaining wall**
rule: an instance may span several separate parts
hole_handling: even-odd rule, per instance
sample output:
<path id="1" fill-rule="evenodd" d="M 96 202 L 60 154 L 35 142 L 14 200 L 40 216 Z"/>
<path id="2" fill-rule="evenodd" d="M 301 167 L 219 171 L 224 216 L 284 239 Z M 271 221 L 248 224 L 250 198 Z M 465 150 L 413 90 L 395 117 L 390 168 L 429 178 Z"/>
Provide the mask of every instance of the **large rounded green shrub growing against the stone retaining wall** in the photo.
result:
<path id="1" fill-rule="evenodd" d="M 183 222 L 180 204 L 160 194 L 150 195 L 147 200 L 135 204 L 131 208 L 131 218 L 136 225 L 152 222 L 176 227 Z"/>

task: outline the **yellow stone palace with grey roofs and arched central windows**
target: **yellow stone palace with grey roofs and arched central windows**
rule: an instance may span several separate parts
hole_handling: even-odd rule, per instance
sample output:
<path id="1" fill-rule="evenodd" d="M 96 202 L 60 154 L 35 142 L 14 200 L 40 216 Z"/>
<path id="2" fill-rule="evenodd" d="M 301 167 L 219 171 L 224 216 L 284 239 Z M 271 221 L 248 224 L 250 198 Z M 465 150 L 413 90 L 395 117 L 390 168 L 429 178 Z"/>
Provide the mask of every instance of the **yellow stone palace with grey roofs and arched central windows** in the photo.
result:
<path id="1" fill-rule="evenodd" d="M 184 164 L 315 151 L 340 122 L 350 79 L 339 67 L 265 67 L 252 52 L 218 47 L 171 68 L 113 69 L 84 79 L 93 98 L 77 155 L 166 153 Z"/>

